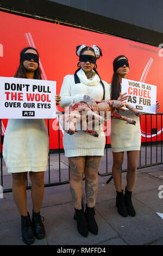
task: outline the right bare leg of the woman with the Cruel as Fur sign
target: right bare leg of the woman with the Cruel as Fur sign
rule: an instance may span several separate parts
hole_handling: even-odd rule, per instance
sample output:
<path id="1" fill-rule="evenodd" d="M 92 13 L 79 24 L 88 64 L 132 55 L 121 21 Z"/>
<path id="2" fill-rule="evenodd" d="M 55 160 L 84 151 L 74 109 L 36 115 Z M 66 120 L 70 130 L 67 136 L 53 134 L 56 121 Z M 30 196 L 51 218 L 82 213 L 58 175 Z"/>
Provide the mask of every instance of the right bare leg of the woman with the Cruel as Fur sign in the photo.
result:
<path id="1" fill-rule="evenodd" d="M 133 191 L 135 181 L 136 181 L 136 174 L 137 174 L 137 161 L 139 158 L 139 150 L 128 151 L 127 152 L 127 190 Z"/>

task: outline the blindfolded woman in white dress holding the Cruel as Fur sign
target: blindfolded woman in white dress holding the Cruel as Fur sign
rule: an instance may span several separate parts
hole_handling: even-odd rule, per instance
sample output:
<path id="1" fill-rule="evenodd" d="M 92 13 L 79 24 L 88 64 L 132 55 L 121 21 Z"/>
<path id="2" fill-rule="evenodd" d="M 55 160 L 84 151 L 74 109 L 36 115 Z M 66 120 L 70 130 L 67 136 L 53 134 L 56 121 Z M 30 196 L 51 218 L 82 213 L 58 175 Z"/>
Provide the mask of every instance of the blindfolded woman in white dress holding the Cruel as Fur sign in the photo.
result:
<path id="1" fill-rule="evenodd" d="M 126 101 L 127 93 L 121 94 L 122 78 L 127 78 L 129 63 L 127 57 L 121 55 L 113 62 L 114 74 L 111 83 L 111 100 Z M 160 107 L 156 102 L 156 109 Z M 124 112 L 119 110 L 123 115 Z M 116 187 L 116 206 L 118 213 L 123 217 L 135 216 L 136 212 L 131 201 L 131 194 L 136 181 L 137 161 L 141 145 L 141 131 L 139 117 L 126 111 L 125 115 L 136 121 L 136 125 L 127 125 L 122 120 L 111 119 L 110 142 L 113 155 L 112 176 Z M 127 186 L 123 196 L 121 169 L 124 151 L 127 151 Z"/>

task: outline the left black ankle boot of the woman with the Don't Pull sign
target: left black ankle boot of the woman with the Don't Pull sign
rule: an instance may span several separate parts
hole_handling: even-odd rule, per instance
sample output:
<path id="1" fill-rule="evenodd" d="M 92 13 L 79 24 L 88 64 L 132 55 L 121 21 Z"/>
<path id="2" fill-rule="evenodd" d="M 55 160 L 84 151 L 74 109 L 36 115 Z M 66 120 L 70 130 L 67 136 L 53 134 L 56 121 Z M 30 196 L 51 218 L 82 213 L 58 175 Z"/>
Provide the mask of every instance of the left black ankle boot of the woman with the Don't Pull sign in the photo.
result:
<path id="1" fill-rule="evenodd" d="M 29 212 L 27 216 L 21 216 L 21 230 L 23 242 L 26 243 L 26 245 L 32 245 L 32 243 L 34 243 L 34 234 Z"/>

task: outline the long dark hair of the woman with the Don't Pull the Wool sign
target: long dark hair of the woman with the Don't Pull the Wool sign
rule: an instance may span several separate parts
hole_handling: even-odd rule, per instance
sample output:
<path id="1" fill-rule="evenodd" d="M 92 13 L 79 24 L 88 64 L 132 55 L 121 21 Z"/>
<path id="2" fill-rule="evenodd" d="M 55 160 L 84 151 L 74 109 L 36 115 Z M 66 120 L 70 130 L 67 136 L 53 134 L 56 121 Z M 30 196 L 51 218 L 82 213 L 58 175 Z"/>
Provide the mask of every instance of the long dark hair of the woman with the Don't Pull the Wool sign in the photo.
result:
<path id="1" fill-rule="evenodd" d="M 20 57 L 29 49 L 32 49 L 32 50 L 35 50 L 36 53 L 38 54 L 39 56 L 39 53 L 37 52 L 37 50 L 33 47 L 26 47 L 24 48 L 21 53 L 20 53 Z M 18 69 L 15 73 L 15 76 L 14 77 L 17 77 L 17 78 L 27 78 L 26 77 L 26 69 L 24 68 L 24 65 L 23 63 L 20 63 L 20 65 L 18 66 Z M 42 80 L 41 78 L 41 69 L 40 67 L 38 66 L 38 68 L 35 70 L 35 73 L 34 73 L 34 79 L 39 79 L 39 80 Z"/>

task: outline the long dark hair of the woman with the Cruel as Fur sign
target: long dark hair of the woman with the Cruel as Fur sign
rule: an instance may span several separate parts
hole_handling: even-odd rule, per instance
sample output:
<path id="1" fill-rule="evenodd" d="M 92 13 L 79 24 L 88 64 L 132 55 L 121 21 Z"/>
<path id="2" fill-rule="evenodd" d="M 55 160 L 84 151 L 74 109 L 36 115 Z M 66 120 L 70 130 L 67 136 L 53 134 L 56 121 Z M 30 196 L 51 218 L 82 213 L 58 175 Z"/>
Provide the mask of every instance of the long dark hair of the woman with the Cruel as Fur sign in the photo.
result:
<path id="1" fill-rule="evenodd" d="M 120 83 L 118 81 L 117 71 L 115 70 L 117 61 L 121 57 L 124 57 L 128 60 L 128 58 L 124 55 L 120 55 L 120 56 L 118 56 L 114 59 L 114 62 L 113 62 L 114 74 L 112 75 L 111 93 L 110 93 L 110 99 L 111 100 L 117 100 L 118 97 L 120 96 L 120 93 L 121 93 L 121 86 L 120 86 Z"/>

